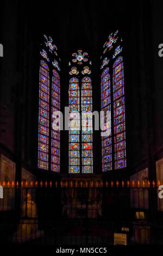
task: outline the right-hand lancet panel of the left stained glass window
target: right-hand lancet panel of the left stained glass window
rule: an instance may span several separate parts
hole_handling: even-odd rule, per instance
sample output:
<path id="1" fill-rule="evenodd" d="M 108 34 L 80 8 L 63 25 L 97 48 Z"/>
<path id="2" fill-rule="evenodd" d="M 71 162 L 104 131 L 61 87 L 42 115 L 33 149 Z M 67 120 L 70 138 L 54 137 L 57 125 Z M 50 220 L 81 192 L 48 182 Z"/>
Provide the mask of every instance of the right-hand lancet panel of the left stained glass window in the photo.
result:
<path id="1" fill-rule="evenodd" d="M 57 71 L 53 70 L 52 76 L 52 113 L 60 111 L 60 78 Z M 52 115 L 52 124 L 55 116 Z M 59 125 L 58 123 L 56 125 Z M 60 170 L 60 130 L 51 129 L 51 169 Z"/>

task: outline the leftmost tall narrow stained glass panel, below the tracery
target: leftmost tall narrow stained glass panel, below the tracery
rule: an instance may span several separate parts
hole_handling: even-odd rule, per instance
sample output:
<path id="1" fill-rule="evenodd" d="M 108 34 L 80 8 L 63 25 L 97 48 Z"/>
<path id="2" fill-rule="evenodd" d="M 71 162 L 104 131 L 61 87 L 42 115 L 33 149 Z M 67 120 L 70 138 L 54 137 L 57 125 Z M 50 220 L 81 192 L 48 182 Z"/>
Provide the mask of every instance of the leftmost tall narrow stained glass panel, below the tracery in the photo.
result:
<path id="1" fill-rule="evenodd" d="M 39 86 L 39 150 L 38 167 L 48 170 L 49 147 L 49 68 L 46 62 L 40 62 Z"/>

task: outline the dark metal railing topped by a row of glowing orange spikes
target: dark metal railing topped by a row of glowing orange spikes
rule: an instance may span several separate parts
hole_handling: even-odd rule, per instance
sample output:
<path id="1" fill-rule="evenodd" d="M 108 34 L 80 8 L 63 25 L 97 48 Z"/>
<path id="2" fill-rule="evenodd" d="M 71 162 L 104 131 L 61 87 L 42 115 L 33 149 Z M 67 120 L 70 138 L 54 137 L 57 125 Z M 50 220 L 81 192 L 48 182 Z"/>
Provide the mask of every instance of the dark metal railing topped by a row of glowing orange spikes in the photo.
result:
<path id="1" fill-rule="evenodd" d="M 162 244 L 162 199 L 154 182 L 2 183 L 0 243 Z"/>

